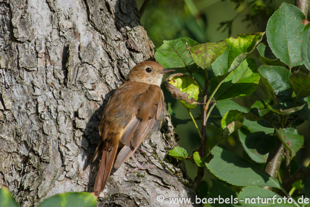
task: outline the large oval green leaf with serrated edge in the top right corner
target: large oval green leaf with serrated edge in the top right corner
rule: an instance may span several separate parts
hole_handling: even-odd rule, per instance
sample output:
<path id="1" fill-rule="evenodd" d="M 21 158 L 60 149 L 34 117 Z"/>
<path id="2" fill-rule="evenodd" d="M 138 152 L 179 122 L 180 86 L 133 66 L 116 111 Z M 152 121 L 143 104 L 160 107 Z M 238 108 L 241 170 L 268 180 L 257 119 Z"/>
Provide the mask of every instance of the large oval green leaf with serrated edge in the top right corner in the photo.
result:
<path id="1" fill-rule="evenodd" d="M 306 17 L 299 8 L 282 3 L 267 23 L 268 44 L 273 54 L 289 68 L 303 64 L 300 47 L 304 32 L 309 27 L 309 24 L 302 24 L 303 19 Z"/>

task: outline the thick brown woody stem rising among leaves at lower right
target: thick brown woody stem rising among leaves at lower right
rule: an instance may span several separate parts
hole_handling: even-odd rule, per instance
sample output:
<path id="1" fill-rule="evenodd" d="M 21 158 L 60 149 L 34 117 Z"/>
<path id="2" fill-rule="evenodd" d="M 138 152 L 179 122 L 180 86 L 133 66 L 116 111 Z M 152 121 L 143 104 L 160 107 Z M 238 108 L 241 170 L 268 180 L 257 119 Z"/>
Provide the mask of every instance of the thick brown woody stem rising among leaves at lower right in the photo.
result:
<path id="1" fill-rule="evenodd" d="M 277 137 L 277 134 L 274 132 L 273 136 Z M 271 175 L 273 178 L 276 178 L 276 179 L 278 177 L 278 172 L 279 172 L 280 165 L 281 165 L 283 151 L 284 151 L 284 146 L 281 140 L 279 139 L 279 137 L 277 137 L 277 146 L 271 152 L 269 152 L 267 162 L 265 165 L 265 169 L 264 169 L 266 173 L 268 173 L 269 175 Z M 270 191 L 272 190 L 272 187 L 269 187 L 269 186 L 265 186 L 264 188 Z"/>

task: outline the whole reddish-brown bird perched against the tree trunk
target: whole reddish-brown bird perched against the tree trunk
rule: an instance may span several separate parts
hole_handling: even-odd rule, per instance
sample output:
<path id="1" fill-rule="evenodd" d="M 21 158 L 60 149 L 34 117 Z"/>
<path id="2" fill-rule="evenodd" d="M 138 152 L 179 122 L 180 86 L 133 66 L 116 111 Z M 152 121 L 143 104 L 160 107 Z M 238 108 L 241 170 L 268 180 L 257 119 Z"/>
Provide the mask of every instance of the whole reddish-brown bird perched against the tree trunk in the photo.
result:
<path id="1" fill-rule="evenodd" d="M 109 99 L 100 121 L 100 142 L 93 158 L 94 161 L 101 154 L 94 186 L 98 195 L 104 190 L 113 164 L 117 169 L 132 157 L 137 168 L 129 172 L 155 167 L 139 164 L 133 154 L 144 138 L 151 137 L 162 125 L 166 104 L 160 84 L 163 74 L 172 71 L 154 61 L 141 62 L 129 71 Z"/>

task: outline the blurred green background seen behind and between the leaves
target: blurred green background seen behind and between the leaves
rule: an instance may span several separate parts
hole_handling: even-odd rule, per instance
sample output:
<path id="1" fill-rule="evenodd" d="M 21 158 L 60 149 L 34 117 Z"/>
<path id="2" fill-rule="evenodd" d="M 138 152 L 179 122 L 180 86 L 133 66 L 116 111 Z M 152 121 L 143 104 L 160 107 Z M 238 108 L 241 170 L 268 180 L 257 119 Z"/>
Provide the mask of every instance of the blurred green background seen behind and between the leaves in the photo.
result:
<path id="1" fill-rule="evenodd" d="M 138 8 L 140 8 L 144 0 L 136 0 Z M 148 32 L 149 38 L 157 47 L 161 46 L 163 40 L 173 40 L 179 37 L 189 37 L 198 43 L 205 42 L 218 42 L 228 37 L 237 37 L 238 34 L 248 34 L 263 32 L 266 30 L 267 20 L 273 14 L 275 10 L 279 8 L 283 1 L 271 0 L 271 1 L 220 1 L 220 0 L 158 0 L 150 1 L 147 9 L 144 11 L 140 21 L 141 24 Z M 285 1 L 293 4 L 294 1 Z M 259 10 L 261 9 L 261 10 Z M 309 19 L 308 12 L 308 19 Z M 259 14 L 259 15 L 258 15 Z M 231 33 L 225 26 L 219 28 L 221 22 L 232 20 Z M 223 31 L 224 30 L 224 31 Z M 230 33 L 230 34 L 229 34 Z M 266 41 L 266 36 L 263 39 Z M 250 57 L 254 58 L 258 65 L 261 62 L 258 58 L 258 51 L 252 53 Z M 208 68 L 209 77 L 213 76 L 211 68 Z M 301 68 L 300 70 L 303 70 Z M 203 85 L 204 71 L 195 73 L 196 80 L 201 80 L 200 85 Z M 261 82 L 261 80 L 260 80 Z M 190 120 L 188 112 L 184 106 L 171 97 L 171 94 L 165 92 L 166 103 L 171 104 L 173 113 L 171 114 L 172 123 L 175 127 L 175 132 L 179 135 L 179 145 L 186 149 L 188 153 L 196 150 L 200 145 L 200 139 L 198 133 L 194 127 L 193 122 Z M 262 83 L 259 83 L 256 91 L 250 97 L 246 98 L 234 98 L 233 101 L 239 103 L 242 106 L 250 107 L 255 101 L 265 97 L 266 91 Z M 201 94 L 198 102 L 202 102 Z M 169 104 L 170 103 L 170 104 Z M 216 112 L 216 109 L 214 109 Z M 202 105 L 192 110 L 194 117 L 198 117 L 202 114 Z M 198 126 L 201 127 L 201 120 L 197 121 Z M 297 127 L 300 135 L 304 136 L 304 148 L 301 149 L 298 154 L 291 161 L 291 172 L 294 172 L 298 168 L 307 167 L 310 163 L 310 122 L 305 121 L 303 124 Z M 218 128 L 207 122 L 207 139 L 206 148 L 212 149 L 213 146 L 220 140 L 221 133 Z M 250 158 L 244 151 L 241 142 L 239 141 L 237 132 L 232 133 L 227 139 L 223 140 L 220 147 L 227 149 L 242 155 L 243 157 Z M 188 175 L 194 179 L 197 175 L 198 166 L 191 161 L 185 161 Z M 257 164 L 262 169 L 265 164 Z M 280 174 L 283 175 L 284 168 L 281 165 Z M 210 189 L 212 182 L 211 179 L 216 179 L 215 176 L 210 173 L 208 169 L 205 169 L 204 178 L 201 181 L 201 185 L 198 188 L 199 196 L 207 197 L 208 189 Z M 300 181 L 299 181 L 300 182 Z M 235 187 L 235 186 L 234 186 Z M 299 183 L 295 183 L 296 190 L 293 195 L 303 194 L 303 187 Z M 237 189 L 235 189 L 237 190 Z"/>

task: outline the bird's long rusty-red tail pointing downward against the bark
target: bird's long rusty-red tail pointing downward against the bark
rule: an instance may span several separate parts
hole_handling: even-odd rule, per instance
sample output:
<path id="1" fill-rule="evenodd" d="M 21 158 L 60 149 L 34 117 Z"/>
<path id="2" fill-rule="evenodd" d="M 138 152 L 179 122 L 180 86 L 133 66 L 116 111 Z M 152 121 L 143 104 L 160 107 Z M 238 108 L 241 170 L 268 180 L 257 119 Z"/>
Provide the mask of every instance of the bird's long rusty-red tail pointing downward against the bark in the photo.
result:
<path id="1" fill-rule="evenodd" d="M 110 172 L 113 167 L 118 148 L 118 142 L 114 143 L 114 146 L 110 147 L 107 146 L 108 143 L 109 142 L 107 142 L 107 140 L 104 141 L 102 157 L 99 164 L 98 174 L 95 180 L 94 191 L 96 191 L 98 195 L 104 190 L 108 177 L 110 176 Z"/>

